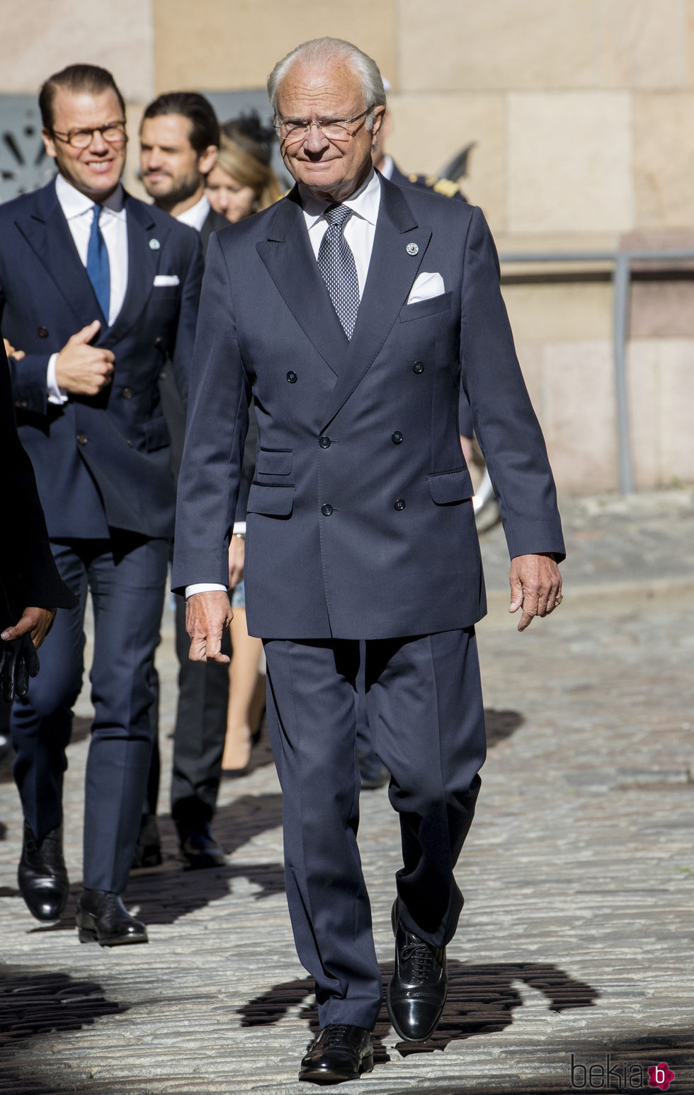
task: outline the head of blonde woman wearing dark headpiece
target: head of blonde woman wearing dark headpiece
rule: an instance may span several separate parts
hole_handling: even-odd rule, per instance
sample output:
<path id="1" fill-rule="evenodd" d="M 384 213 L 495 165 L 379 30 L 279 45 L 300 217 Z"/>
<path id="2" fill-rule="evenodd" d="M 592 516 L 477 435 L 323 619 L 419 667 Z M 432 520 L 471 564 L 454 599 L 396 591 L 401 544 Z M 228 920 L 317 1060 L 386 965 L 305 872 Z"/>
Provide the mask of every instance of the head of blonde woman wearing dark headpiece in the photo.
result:
<path id="1" fill-rule="evenodd" d="M 236 222 L 282 197 L 284 191 L 270 165 L 273 138 L 272 126 L 263 126 L 253 113 L 225 123 L 217 162 L 205 184 L 215 212 Z"/>

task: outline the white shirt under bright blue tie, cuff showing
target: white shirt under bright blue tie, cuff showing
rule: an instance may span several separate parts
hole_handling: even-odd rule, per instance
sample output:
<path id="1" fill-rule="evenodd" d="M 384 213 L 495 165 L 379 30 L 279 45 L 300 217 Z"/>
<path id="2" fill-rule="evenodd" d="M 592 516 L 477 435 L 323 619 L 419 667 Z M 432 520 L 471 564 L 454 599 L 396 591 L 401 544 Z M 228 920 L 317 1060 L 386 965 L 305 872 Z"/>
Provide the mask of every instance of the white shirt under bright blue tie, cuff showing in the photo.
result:
<path id="1" fill-rule="evenodd" d="M 62 175 L 56 177 L 56 197 L 60 203 L 60 208 L 65 214 L 68 228 L 80 262 L 87 266 L 87 250 L 89 247 L 89 237 L 92 229 L 92 212 L 94 203 L 86 194 L 76 189 Z M 123 308 L 125 290 L 127 289 L 127 223 L 125 219 L 125 205 L 123 187 L 118 183 L 113 194 L 101 204 L 102 212 L 99 218 L 99 227 L 104 238 L 106 252 L 109 254 L 109 269 L 111 278 L 111 298 L 109 301 L 109 326 L 112 326 Z M 94 315 L 96 319 L 96 315 Z M 52 354 L 48 361 L 46 384 L 48 388 L 48 401 L 50 403 L 65 403 L 67 392 L 58 388 L 56 383 L 56 361 L 57 354 Z"/>

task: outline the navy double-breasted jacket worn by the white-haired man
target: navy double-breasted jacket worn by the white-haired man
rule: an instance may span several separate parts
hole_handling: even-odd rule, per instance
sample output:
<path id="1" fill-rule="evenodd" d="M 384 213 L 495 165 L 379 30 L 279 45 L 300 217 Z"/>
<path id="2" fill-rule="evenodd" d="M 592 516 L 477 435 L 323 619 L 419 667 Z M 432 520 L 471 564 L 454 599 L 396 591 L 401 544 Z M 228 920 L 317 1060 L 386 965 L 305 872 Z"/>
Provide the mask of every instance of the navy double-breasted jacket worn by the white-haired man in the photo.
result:
<path id="1" fill-rule="evenodd" d="M 351 342 L 296 191 L 213 237 L 179 480 L 173 585 L 227 580 L 248 403 L 246 590 L 265 638 L 382 638 L 485 612 L 460 383 L 512 556 L 564 556 L 555 486 L 481 211 L 380 181 Z M 445 292 L 408 304 L 419 273 Z"/>

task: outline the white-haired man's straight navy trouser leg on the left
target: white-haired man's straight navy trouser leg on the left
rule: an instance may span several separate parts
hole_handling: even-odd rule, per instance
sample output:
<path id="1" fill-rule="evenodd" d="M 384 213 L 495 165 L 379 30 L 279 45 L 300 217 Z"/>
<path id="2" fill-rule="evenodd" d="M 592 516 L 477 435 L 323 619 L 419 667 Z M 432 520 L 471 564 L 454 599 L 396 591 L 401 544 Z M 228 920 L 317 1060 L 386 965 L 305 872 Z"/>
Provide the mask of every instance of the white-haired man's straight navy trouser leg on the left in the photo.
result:
<path id="1" fill-rule="evenodd" d="M 265 642 L 268 724 L 282 783 L 287 901 L 320 1025 L 373 1029 L 382 981 L 356 846 L 359 644 Z"/>

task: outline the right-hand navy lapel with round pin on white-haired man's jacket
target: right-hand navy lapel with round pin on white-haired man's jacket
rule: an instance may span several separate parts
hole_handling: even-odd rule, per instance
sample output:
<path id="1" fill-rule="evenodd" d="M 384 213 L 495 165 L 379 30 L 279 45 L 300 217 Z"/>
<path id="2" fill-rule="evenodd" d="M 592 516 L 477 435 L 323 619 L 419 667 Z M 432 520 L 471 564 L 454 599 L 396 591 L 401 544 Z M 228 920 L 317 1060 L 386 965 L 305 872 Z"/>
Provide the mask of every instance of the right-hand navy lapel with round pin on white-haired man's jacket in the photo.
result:
<path id="1" fill-rule="evenodd" d="M 417 223 L 399 186 L 380 180 L 380 205 L 364 296 L 343 369 L 330 394 L 323 430 L 368 372 L 405 306 L 431 240 L 431 229 Z M 408 244 L 416 244 L 410 254 Z"/>

